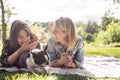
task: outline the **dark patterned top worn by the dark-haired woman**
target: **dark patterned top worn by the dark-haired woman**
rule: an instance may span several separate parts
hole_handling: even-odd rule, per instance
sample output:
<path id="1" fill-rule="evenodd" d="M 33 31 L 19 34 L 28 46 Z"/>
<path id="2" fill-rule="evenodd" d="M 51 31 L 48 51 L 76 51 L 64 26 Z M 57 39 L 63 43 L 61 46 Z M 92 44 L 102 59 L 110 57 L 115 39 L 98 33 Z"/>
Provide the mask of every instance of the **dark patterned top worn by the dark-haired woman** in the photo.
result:
<path id="1" fill-rule="evenodd" d="M 38 44 L 36 46 L 36 48 L 41 48 L 40 44 Z M 20 67 L 19 65 L 19 57 L 15 60 L 15 62 L 10 65 L 8 63 L 8 57 L 13 54 L 16 50 L 13 48 L 10 48 L 10 41 L 9 39 L 5 40 L 5 42 L 3 43 L 3 49 L 2 49 L 2 54 L 0 56 L 0 66 L 2 67 L 10 67 L 10 66 L 16 66 L 16 67 Z"/>

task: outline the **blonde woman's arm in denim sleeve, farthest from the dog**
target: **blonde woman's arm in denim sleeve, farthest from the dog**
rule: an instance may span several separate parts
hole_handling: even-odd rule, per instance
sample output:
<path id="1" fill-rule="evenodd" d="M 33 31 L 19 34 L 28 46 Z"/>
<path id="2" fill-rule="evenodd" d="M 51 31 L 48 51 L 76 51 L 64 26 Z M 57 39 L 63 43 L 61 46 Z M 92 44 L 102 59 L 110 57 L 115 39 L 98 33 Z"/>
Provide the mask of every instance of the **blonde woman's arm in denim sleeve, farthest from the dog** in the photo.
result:
<path id="1" fill-rule="evenodd" d="M 72 56 L 68 55 L 67 57 L 69 59 L 67 59 L 67 63 L 65 64 L 65 66 L 71 68 L 82 67 L 84 61 L 84 43 L 81 38 L 78 38 Z"/>

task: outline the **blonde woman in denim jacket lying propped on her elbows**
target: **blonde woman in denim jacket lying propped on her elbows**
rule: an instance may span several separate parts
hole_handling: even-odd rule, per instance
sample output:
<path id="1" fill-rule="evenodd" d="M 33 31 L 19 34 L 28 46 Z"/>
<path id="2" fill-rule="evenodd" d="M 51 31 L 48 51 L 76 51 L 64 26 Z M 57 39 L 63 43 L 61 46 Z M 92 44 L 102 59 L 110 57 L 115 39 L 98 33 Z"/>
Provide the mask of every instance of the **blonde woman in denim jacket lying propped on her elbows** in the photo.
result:
<path id="1" fill-rule="evenodd" d="M 60 17 L 48 27 L 52 33 L 47 49 L 50 66 L 81 68 L 84 61 L 84 44 L 82 39 L 76 36 L 72 20 Z"/>

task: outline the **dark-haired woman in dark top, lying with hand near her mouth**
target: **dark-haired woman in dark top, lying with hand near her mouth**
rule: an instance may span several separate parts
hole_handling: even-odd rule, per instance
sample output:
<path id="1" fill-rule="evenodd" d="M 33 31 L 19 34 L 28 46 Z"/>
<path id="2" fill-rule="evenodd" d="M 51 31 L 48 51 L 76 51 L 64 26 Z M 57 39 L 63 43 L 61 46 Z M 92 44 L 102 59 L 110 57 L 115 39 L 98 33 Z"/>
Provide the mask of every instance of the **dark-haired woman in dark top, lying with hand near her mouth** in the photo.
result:
<path id="1" fill-rule="evenodd" d="M 21 67 L 19 57 L 26 51 L 40 48 L 38 38 L 32 33 L 30 26 L 23 21 L 15 20 L 10 29 L 9 39 L 3 43 L 0 66 Z"/>

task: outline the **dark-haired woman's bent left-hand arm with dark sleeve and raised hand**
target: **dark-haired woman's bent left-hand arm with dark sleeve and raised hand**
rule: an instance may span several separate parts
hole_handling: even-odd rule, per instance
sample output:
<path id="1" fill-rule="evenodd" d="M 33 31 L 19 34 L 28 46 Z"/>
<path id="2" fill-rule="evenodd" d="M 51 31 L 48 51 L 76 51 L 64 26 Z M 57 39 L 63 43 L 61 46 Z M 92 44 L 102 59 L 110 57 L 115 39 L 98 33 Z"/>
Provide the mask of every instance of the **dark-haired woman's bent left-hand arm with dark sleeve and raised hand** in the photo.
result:
<path id="1" fill-rule="evenodd" d="M 12 64 L 15 62 L 15 60 L 26 50 L 29 50 L 30 47 L 34 45 L 34 43 L 30 43 L 30 41 L 24 43 L 19 49 L 17 49 L 15 52 L 11 50 L 9 47 L 8 42 L 4 42 L 3 49 L 2 49 L 2 55 L 0 57 L 0 63 L 4 67 L 12 66 Z M 13 53 L 12 53 L 13 52 Z"/>

